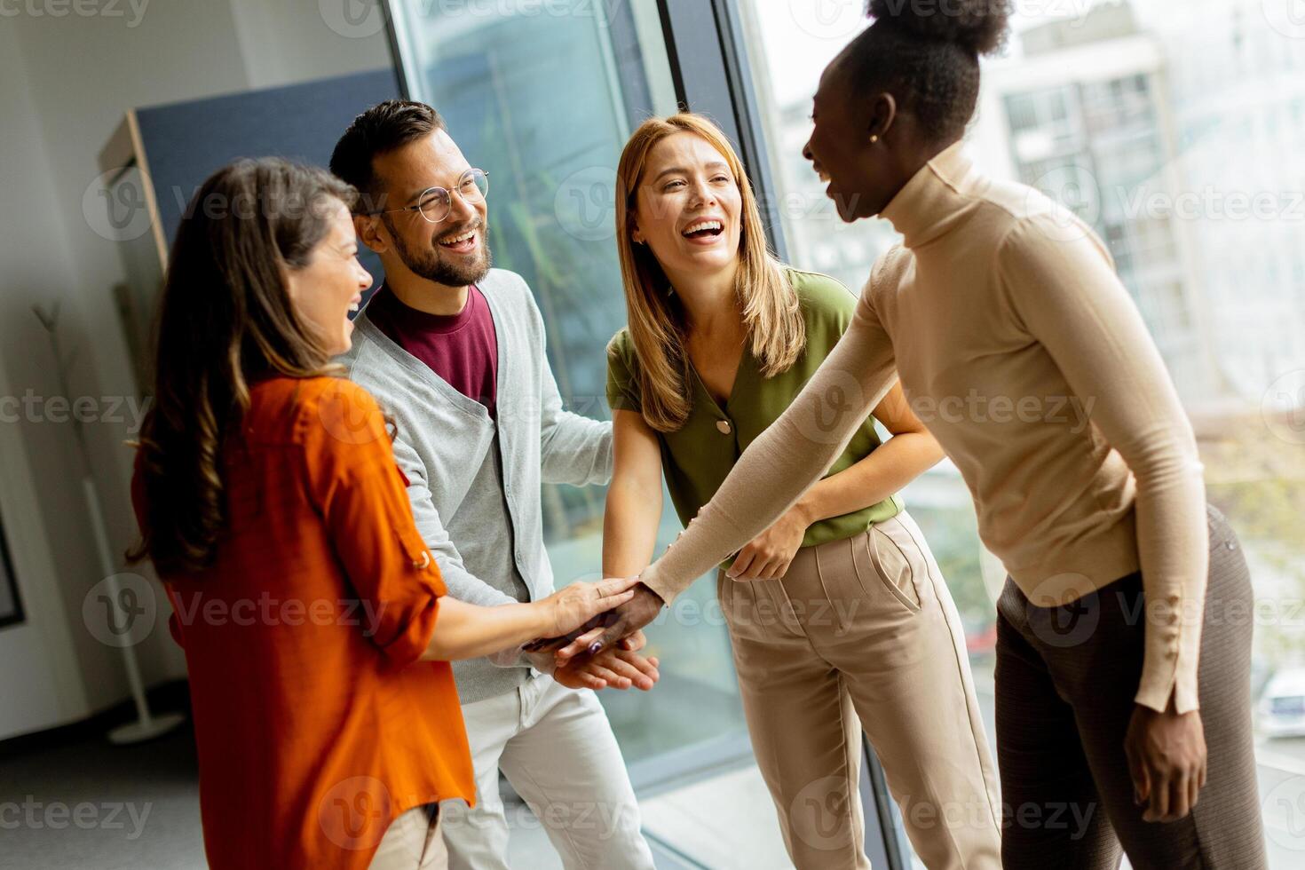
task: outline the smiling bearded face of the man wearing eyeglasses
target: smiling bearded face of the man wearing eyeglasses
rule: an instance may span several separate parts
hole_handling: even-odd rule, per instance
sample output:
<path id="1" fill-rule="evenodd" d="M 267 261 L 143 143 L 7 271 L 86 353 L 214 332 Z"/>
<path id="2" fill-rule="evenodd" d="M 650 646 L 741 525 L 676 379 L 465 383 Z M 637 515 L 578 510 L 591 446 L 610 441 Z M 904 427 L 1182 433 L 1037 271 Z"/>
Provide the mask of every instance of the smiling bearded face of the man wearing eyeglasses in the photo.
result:
<path id="1" fill-rule="evenodd" d="M 485 243 L 485 201 L 474 202 L 457 192 L 462 173 L 471 168 L 445 130 L 414 140 L 375 158 L 386 209 L 416 205 L 422 194 L 440 187 L 450 190 L 449 214 L 431 223 L 418 211 L 395 211 L 360 220 L 369 248 L 381 254 L 386 271 L 398 267 L 446 287 L 466 287 L 489 271 Z"/>

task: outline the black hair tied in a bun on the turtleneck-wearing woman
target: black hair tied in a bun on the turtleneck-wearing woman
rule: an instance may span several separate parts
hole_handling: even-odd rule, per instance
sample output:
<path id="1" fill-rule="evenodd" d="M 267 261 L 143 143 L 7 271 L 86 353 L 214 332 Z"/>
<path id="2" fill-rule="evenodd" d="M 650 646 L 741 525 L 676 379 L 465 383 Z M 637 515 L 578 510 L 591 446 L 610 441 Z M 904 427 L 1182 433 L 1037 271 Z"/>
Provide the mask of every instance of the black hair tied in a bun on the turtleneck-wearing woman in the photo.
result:
<path id="1" fill-rule="evenodd" d="M 1011 0 L 869 0 L 874 20 L 844 51 L 853 94 L 887 90 L 934 142 L 964 133 L 979 56 L 1001 48 Z"/>

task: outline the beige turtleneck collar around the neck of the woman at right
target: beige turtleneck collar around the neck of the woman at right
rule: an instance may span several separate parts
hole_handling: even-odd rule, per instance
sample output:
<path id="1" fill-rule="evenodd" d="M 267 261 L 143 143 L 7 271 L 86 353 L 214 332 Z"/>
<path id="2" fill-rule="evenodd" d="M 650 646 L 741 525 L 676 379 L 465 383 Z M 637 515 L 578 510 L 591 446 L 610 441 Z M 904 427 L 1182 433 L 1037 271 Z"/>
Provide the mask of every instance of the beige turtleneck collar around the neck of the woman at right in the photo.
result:
<path id="1" fill-rule="evenodd" d="M 957 141 L 920 167 L 880 217 L 902 233 L 907 248 L 919 248 L 964 217 L 966 206 L 974 202 L 968 192 L 980 177 L 964 151 L 964 141 Z"/>

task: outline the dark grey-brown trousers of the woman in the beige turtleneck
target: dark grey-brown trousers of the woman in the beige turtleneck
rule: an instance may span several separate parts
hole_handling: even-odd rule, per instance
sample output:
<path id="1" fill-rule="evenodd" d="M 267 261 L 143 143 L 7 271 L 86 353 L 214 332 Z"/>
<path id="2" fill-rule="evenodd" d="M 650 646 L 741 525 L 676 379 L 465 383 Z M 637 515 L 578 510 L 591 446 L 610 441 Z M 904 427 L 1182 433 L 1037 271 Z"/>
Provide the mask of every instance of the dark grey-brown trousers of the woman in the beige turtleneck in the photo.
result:
<path id="1" fill-rule="evenodd" d="M 1194 810 L 1144 822 L 1124 736 L 1142 674 L 1142 575 L 1078 601 L 1028 603 L 1009 578 L 997 601 L 997 758 L 1006 870 L 1266 866 L 1251 740 L 1250 573 L 1214 507 L 1198 669 L 1208 777 Z"/>

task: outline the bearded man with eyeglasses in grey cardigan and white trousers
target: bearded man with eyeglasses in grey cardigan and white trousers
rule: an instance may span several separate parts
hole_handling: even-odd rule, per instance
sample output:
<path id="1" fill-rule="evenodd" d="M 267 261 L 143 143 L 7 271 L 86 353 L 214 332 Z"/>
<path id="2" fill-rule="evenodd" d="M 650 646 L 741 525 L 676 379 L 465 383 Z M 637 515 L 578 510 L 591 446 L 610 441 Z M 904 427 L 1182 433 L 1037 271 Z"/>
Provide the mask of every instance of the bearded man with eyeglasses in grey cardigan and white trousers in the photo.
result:
<path id="1" fill-rule="evenodd" d="M 385 267 L 342 363 L 394 420 L 416 526 L 449 593 L 491 607 L 552 593 L 540 481 L 607 483 L 611 424 L 562 410 L 530 288 L 491 269 L 488 175 L 433 108 L 407 100 L 359 115 L 330 168 L 359 189 L 354 223 Z M 576 691 L 651 689 L 655 660 L 636 652 L 642 638 L 626 646 L 561 673 L 521 650 L 454 663 L 476 806 L 440 807 L 450 867 L 508 870 L 500 768 L 566 866 L 652 867 L 607 716 Z"/>

